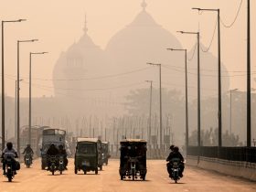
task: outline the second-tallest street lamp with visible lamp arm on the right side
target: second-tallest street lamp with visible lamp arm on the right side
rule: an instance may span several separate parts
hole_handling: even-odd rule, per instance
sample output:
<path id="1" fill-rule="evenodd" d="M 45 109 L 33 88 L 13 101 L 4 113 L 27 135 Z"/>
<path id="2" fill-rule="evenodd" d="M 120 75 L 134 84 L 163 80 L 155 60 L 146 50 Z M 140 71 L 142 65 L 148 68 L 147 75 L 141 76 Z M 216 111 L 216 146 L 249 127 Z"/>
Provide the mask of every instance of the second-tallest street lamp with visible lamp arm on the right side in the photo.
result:
<path id="1" fill-rule="evenodd" d="M 201 146 L 201 107 L 200 107 L 200 33 L 177 31 L 181 34 L 197 35 L 197 145 Z"/>

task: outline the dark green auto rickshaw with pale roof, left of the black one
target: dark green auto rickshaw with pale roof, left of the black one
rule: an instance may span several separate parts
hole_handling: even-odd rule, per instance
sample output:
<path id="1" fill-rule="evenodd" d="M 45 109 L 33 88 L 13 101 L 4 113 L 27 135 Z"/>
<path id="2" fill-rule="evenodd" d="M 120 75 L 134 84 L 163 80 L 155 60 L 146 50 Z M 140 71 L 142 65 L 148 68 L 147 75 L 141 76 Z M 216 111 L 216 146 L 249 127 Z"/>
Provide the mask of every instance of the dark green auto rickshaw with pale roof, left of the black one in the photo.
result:
<path id="1" fill-rule="evenodd" d="M 101 141 L 97 138 L 78 138 L 75 153 L 75 174 L 102 170 Z"/>

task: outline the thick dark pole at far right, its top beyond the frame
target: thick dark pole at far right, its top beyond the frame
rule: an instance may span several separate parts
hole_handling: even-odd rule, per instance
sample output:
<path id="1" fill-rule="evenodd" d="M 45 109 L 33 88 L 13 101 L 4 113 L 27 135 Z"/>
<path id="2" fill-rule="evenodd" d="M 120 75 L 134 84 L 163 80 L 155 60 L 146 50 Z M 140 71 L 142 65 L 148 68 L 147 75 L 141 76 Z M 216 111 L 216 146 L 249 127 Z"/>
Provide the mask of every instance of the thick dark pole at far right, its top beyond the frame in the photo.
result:
<path id="1" fill-rule="evenodd" d="M 250 0 L 247 0 L 247 146 L 251 147 L 251 19 Z"/>

